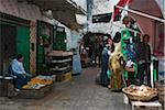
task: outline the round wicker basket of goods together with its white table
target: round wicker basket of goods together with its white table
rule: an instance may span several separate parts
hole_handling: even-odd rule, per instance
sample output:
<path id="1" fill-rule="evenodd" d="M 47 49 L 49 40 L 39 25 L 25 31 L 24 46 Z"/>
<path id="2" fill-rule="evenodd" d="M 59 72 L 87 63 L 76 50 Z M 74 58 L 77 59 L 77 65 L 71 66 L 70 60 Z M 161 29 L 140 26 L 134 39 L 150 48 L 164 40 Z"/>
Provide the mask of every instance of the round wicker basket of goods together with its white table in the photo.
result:
<path id="1" fill-rule="evenodd" d="M 132 110 L 135 107 L 153 107 L 163 110 L 162 103 L 157 100 L 157 88 L 150 88 L 147 86 L 129 86 L 122 89 L 124 96 L 124 103 L 130 103 Z"/>

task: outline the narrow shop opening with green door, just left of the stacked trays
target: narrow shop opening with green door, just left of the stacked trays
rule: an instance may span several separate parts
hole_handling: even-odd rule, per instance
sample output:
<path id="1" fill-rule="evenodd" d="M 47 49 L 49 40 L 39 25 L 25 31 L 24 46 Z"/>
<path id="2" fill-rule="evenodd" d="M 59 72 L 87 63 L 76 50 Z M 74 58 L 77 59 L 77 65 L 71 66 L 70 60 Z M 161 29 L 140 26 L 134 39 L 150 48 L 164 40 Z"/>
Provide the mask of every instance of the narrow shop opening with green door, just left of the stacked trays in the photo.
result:
<path id="1" fill-rule="evenodd" d="M 37 21 L 36 73 L 46 73 L 47 54 L 53 50 L 54 25 Z M 48 72 L 47 72 L 48 73 Z"/>

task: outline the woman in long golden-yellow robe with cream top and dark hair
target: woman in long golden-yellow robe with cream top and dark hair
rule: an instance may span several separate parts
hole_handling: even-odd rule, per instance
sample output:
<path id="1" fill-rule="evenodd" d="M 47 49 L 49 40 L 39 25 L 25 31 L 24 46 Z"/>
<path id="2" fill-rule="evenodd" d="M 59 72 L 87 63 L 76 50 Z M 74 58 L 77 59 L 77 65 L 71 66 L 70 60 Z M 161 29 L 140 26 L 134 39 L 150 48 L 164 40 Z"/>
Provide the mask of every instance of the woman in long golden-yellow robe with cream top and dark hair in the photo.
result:
<path id="1" fill-rule="evenodd" d="M 111 73 L 110 78 L 110 86 L 111 90 L 113 91 L 120 91 L 122 88 L 122 75 L 124 72 L 124 61 L 123 55 L 121 53 L 121 33 L 117 32 L 113 37 L 114 43 L 114 51 L 111 53 L 111 56 L 109 58 L 109 69 Z"/>

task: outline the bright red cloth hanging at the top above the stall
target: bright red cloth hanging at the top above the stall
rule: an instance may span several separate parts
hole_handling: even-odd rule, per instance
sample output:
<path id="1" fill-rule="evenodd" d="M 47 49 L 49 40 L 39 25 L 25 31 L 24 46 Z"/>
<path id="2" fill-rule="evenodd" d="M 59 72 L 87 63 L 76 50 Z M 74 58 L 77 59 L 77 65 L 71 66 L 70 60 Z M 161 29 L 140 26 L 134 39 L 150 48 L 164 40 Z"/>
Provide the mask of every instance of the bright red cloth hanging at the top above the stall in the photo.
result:
<path id="1" fill-rule="evenodd" d="M 124 4 L 130 3 L 130 2 L 132 2 L 132 0 L 120 0 L 120 1 L 117 3 L 117 6 L 123 7 Z M 119 8 L 116 8 L 116 9 L 114 9 L 114 13 L 113 13 L 113 19 L 118 15 L 119 12 L 120 12 L 120 9 L 119 9 Z"/>

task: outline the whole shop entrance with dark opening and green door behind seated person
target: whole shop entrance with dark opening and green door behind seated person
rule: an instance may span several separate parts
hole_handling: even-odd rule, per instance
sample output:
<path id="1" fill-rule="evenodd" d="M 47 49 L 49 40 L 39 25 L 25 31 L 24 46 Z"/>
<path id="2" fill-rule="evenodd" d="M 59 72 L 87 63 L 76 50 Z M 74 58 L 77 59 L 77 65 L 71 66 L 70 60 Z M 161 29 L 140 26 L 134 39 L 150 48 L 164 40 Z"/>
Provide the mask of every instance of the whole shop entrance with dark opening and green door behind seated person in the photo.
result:
<path id="1" fill-rule="evenodd" d="M 23 54 L 24 66 L 30 66 L 30 22 L 16 16 L 1 13 L 0 38 L 1 38 L 1 75 L 6 76 L 11 58 Z"/>

